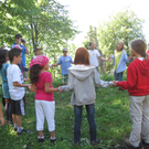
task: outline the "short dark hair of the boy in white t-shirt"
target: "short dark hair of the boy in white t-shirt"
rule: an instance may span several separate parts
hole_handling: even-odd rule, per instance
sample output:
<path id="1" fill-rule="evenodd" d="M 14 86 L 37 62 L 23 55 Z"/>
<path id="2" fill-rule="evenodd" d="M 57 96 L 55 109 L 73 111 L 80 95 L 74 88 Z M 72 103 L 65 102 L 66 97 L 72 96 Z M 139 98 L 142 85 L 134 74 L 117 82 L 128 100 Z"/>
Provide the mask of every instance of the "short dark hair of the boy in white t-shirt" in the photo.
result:
<path id="1" fill-rule="evenodd" d="M 19 56 L 20 54 L 22 53 L 22 50 L 20 50 L 20 49 L 12 49 L 12 50 L 10 50 L 9 51 L 9 60 L 10 60 L 10 62 L 12 63 L 12 61 L 13 61 L 13 57 L 14 56 Z"/>

